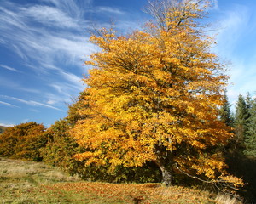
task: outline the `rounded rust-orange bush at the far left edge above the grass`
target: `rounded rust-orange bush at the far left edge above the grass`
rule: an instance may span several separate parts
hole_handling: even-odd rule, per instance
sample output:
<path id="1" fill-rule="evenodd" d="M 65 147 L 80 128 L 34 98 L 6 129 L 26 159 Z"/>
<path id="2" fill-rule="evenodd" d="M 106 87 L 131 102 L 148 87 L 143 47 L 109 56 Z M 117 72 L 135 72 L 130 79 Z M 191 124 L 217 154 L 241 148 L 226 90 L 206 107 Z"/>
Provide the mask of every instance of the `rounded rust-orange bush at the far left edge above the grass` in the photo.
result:
<path id="1" fill-rule="evenodd" d="M 39 149 L 46 144 L 45 127 L 36 122 L 9 127 L 0 136 L 0 156 L 41 161 Z"/>

